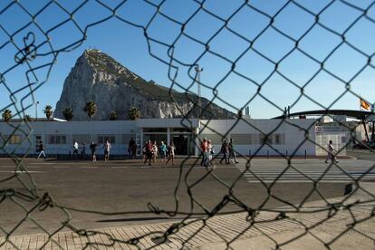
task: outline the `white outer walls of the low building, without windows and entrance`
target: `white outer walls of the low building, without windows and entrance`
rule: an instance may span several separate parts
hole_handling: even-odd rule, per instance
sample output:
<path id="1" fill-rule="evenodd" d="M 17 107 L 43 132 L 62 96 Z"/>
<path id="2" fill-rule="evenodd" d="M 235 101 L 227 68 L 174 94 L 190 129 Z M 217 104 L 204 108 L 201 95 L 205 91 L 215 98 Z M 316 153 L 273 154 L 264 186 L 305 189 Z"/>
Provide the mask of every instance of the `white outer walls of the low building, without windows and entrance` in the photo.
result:
<path id="1" fill-rule="evenodd" d="M 291 155 L 293 151 L 295 155 L 304 155 L 306 150 L 307 155 L 315 155 L 315 145 L 312 142 L 305 141 L 303 145 L 298 149 L 298 146 L 305 139 L 305 130 L 308 130 L 309 137 L 312 141 L 315 141 L 315 120 L 240 120 L 236 123 L 236 120 L 194 120 L 194 126 L 199 126 L 197 131 L 200 134 L 205 134 L 209 138 L 214 137 L 217 133 L 224 135 L 227 133 L 226 138 L 231 138 L 233 134 L 262 134 L 270 133 L 274 130 L 273 134 L 279 133 L 284 134 L 284 144 L 283 145 L 272 145 L 274 149 L 279 150 L 280 153 L 286 154 L 288 150 L 288 155 Z M 288 122 L 290 124 L 288 124 Z M 207 124 L 207 128 L 204 126 Z M 11 125 L 17 125 L 16 122 L 11 123 Z M 98 135 L 115 135 L 116 143 L 112 143 L 112 154 L 127 154 L 128 141 L 122 141 L 123 134 L 136 134 L 140 133 L 139 127 L 152 128 L 172 126 L 181 127 L 177 119 L 174 120 L 103 120 L 103 121 L 33 121 L 31 122 L 33 126 L 34 133 L 31 136 L 31 142 L 24 142 L 21 145 L 6 145 L 5 150 L 10 152 L 16 149 L 19 154 L 24 154 L 27 149 L 31 149 L 31 154 L 35 153 L 35 135 L 42 135 L 43 144 L 45 145 L 45 152 L 47 154 L 68 154 L 69 150 L 72 150 L 72 140 L 74 135 L 80 134 L 90 134 L 91 139 L 95 142 Z M 311 128 L 309 128 L 311 127 Z M 30 131 L 24 124 L 22 129 Z M 0 132 L 3 135 L 9 135 L 14 129 L 5 122 L 0 122 Z M 24 139 L 24 135 L 17 130 L 15 132 L 17 135 L 21 135 Z M 63 134 L 66 135 L 65 145 L 49 145 L 48 135 L 51 134 Z M 217 137 L 217 136 L 216 136 Z M 82 141 L 79 141 L 82 142 Z M 90 142 L 90 141 L 89 141 Z M 2 143 L 0 142 L 0 145 Z M 261 143 L 252 145 L 239 145 L 236 144 L 236 151 L 241 154 L 248 155 L 249 150 L 252 154 L 258 150 L 257 155 L 267 155 L 267 150 L 269 155 L 278 155 L 278 153 L 269 146 L 264 145 L 261 147 Z M 221 147 L 220 141 L 216 144 L 216 152 L 219 151 Z M 101 149 L 98 150 L 102 153 Z M 87 148 L 87 152 L 89 149 Z M 0 150 L 0 154 L 4 154 L 4 151 Z"/>

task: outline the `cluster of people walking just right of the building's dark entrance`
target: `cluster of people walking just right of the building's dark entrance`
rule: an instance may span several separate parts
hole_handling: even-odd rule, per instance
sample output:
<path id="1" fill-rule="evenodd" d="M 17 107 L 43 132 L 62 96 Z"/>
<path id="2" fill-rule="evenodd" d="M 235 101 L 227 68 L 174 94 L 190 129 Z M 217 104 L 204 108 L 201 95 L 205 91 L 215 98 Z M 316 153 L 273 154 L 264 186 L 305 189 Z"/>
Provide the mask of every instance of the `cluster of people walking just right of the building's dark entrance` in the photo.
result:
<path id="1" fill-rule="evenodd" d="M 210 167 L 212 166 L 212 159 L 215 155 L 214 145 L 212 145 L 211 139 L 204 138 L 202 142 L 200 143 L 200 151 L 202 155 L 202 161 L 200 162 L 200 166 L 202 167 Z M 235 162 L 237 161 L 236 151 L 235 151 L 235 144 L 233 139 L 229 140 L 229 143 L 226 142 L 226 139 L 223 141 L 223 144 L 221 145 L 220 152 L 223 157 L 220 159 L 220 164 L 223 163 L 223 160 L 226 161 L 226 164 L 230 163 L 230 159 L 235 159 Z"/>

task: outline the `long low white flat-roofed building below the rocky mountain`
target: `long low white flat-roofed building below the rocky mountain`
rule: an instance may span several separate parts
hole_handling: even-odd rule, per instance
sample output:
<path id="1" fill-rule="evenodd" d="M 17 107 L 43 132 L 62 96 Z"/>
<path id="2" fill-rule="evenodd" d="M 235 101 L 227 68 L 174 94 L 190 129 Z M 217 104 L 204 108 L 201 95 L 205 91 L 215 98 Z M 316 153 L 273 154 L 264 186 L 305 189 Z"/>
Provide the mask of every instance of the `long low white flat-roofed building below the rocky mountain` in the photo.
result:
<path id="1" fill-rule="evenodd" d="M 198 120 L 140 119 L 102 121 L 31 121 L 33 128 L 19 121 L 0 122 L 0 155 L 35 155 L 43 141 L 47 155 L 67 155 L 77 140 L 103 144 L 111 141 L 112 155 L 128 154 L 130 138 L 158 143 L 173 140 L 178 155 L 198 155 L 199 139 L 211 139 L 219 152 L 223 139 L 234 139 L 242 155 L 316 155 L 315 120 Z M 17 129 L 15 129 L 17 128 Z M 28 135 L 28 136 L 27 136 Z M 266 142 L 267 144 L 264 144 Z M 97 150 L 101 153 L 101 149 Z"/>

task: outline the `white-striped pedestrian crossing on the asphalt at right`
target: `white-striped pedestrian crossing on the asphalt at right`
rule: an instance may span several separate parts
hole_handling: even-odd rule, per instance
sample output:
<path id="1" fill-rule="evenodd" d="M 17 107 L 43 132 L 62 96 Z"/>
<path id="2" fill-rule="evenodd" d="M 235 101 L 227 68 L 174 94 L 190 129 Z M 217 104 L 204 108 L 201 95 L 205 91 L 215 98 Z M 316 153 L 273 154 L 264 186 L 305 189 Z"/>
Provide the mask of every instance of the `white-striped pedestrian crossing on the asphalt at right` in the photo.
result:
<path id="1" fill-rule="evenodd" d="M 340 169 L 330 169 L 326 173 L 325 168 L 288 168 L 284 173 L 285 168 L 250 168 L 245 170 L 244 166 L 237 166 L 237 168 L 244 173 L 244 177 L 250 183 L 260 183 L 261 180 L 265 183 L 285 182 L 310 182 L 319 180 L 319 182 L 354 182 L 356 179 L 361 180 L 375 180 L 375 169 L 370 171 L 369 168 L 351 168 L 345 169 L 346 173 Z"/>

